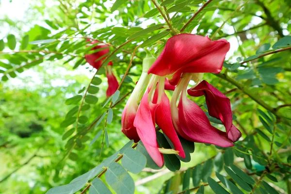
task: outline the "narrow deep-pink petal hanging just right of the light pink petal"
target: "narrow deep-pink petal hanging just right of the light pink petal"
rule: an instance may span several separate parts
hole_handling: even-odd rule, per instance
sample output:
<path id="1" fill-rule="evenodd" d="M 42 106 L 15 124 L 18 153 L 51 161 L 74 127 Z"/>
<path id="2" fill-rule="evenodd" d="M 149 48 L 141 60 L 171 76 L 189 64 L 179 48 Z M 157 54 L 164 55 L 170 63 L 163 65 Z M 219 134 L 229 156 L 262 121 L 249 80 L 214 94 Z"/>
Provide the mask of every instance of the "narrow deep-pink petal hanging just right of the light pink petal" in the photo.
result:
<path id="1" fill-rule="evenodd" d="M 158 90 L 156 89 L 155 95 L 157 93 Z M 185 158 L 184 149 L 172 123 L 170 100 L 164 92 L 162 93 L 162 100 L 156 110 L 156 123 L 173 143 L 175 150 L 179 151 L 179 156 Z"/>

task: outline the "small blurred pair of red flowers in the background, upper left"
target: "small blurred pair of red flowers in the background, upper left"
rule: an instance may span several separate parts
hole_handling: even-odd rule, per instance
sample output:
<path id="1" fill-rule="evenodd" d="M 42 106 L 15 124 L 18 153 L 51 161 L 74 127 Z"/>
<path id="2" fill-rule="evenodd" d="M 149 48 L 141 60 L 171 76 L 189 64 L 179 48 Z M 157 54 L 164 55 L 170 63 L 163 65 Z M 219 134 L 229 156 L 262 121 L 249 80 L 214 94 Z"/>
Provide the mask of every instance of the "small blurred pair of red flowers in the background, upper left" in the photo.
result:
<path id="1" fill-rule="evenodd" d="M 91 42 L 91 44 L 93 45 L 98 44 L 98 43 L 99 42 L 96 40 L 93 40 Z M 85 55 L 86 62 L 98 70 L 100 66 L 102 65 L 102 61 L 106 58 L 106 55 L 109 53 L 109 47 L 108 45 L 105 45 L 105 44 L 102 44 L 102 45 L 98 44 L 97 46 L 93 47 L 91 50 L 95 50 L 96 52 L 92 54 L 86 54 Z M 112 66 L 113 66 L 113 63 L 111 61 L 107 64 L 107 66 L 105 66 L 105 71 L 106 71 L 105 73 L 106 73 L 106 77 L 108 81 L 108 89 L 106 91 L 107 97 L 112 96 L 117 90 L 118 85 L 119 85 L 116 77 L 113 74 Z"/>

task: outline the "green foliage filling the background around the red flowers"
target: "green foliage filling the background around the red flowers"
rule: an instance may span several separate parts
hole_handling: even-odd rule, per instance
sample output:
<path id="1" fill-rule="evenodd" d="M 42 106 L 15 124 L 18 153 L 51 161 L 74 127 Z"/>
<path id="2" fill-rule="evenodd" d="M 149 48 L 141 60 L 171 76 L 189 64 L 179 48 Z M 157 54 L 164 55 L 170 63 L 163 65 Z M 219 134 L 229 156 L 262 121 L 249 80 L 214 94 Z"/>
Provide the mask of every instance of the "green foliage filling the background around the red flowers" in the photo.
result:
<path id="1" fill-rule="evenodd" d="M 0 1 L 1 9 L 8 4 Z M 35 0 L 21 26 L 0 18 L 9 29 L 0 33 L 0 193 L 290 194 L 290 7 L 290 0 Z M 229 148 L 181 138 L 186 158 L 164 154 L 161 169 L 122 134 L 121 113 L 145 49 L 158 56 L 182 32 L 230 42 L 222 72 L 204 79 L 230 98 L 242 138 Z M 87 39 L 110 46 L 98 71 L 84 58 L 96 52 Z M 109 61 L 120 87 L 106 98 Z M 193 100 L 207 113 L 202 98 Z"/>

